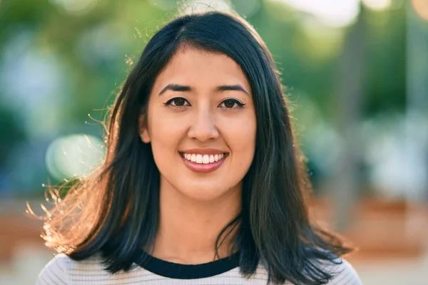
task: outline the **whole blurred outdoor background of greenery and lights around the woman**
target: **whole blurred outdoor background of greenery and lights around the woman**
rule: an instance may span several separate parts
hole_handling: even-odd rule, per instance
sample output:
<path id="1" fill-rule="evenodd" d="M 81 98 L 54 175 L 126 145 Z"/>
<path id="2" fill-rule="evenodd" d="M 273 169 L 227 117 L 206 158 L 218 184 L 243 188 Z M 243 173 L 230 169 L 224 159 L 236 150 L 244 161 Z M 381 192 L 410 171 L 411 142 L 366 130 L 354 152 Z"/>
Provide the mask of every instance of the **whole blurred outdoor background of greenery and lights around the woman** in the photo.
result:
<path id="1" fill-rule="evenodd" d="M 103 156 L 100 121 L 157 28 L 234 10 L 287 88 L 312 212 L 364 284 L 428 284 L 428 0 L 0 0 L 0 284 L 34 284 L 46 185 Z"/>

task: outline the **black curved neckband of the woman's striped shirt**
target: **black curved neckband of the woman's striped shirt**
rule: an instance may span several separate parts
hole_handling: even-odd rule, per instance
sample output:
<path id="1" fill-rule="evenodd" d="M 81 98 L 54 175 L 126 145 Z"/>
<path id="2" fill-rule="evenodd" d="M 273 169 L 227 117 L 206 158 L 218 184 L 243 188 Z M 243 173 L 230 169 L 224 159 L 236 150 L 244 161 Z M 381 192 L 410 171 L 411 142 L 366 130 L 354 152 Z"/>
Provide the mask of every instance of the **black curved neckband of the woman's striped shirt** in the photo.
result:
<path id="1" fill-rule="evenodd" d="M 173 279 L 199 279 L 225 273 L 239 266 L 240 252 L 203 264 L 178 264 L 142 252 L 136 264 L 154 274 Z"/>

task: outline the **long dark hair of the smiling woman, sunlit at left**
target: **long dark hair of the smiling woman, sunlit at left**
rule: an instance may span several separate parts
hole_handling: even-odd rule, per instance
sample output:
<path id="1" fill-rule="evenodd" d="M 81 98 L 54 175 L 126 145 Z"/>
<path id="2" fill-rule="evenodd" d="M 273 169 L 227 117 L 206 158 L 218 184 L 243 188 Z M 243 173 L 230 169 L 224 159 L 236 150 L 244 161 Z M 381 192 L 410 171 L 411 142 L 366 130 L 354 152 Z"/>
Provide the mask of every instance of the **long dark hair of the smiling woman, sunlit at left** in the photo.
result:
<path id="1" fill-rule="evenodd" d="M 141 142 L 138 116 L 145 113 L 156 76 L 183 45 L 229 56 L 253 90 L 255 157 L 244 177 L 242 212 L 219 233 L 216 252 L 220 236 L 237 227 L 233 249 L 240 250 L 244 276 L 263 264 L 276 284 L 327 283 L 332 272 L 323 264 L 334 264 L 351 249 L 310 221 L 310 182 L 270 52 L 250 24 L 220 12 L 180 16 L 148 42 L 111 108 L 103 165 L 48 212 L 46 245 L 75 260 L 101 254 L 111 273 L 131 269 L 135 253 L 151 248 L 160 174 L 151 146 Z M 56 191 L 51 194 L 58 198 Z"/>

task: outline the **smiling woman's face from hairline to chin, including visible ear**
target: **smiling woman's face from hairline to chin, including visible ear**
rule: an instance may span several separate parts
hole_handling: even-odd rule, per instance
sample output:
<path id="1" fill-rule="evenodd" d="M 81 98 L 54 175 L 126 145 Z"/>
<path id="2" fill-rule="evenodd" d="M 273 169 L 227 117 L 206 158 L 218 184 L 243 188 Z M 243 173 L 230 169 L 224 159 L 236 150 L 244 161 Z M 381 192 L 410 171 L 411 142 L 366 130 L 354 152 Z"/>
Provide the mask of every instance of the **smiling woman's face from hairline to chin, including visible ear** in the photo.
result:
<path id="1" fill-rule="evenodd" d="M 256 119 L 250 84 L 233 59 L 180 48 L 156 78 L 140 124 L 161 187 L 203 201 L 241 190 Z"/>

